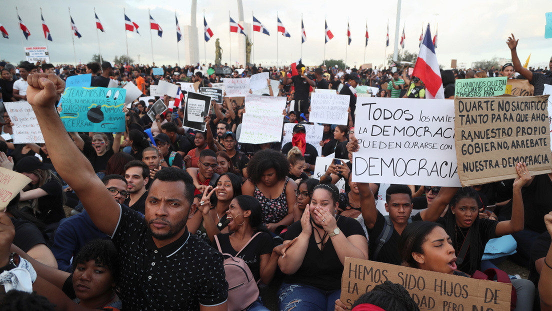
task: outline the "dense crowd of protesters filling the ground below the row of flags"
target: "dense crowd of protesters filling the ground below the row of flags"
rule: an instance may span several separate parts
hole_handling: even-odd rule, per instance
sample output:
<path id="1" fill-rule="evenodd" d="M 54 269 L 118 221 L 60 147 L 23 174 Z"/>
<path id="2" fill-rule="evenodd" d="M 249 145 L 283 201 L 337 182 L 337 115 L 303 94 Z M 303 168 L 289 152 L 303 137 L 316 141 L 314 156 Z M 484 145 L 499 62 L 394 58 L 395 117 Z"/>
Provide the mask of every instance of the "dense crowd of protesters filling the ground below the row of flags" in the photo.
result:
<path id="1" fill-rule="evenodd" d="M 507 45 L 512 63 L 500 70 L 442 71 L 445 98 L 454 99 L 457 79 L 497 76 L 525 78 L 535 95 L 542 94 L 544 84 L 552 84 L 552 59 L 549 67 L 527 69 L 513 35 Z M 33 294 L 0 297 L 7 309 L 268 310 L 273 300 L 271 308 L 282 311 L 344 310 L 345 257 L 469 277 L 507 258 L 482 260 L 487 242 L 506 235 L 517 241 L 509 260 L 530 271 L 529 280 L 510 276 L 514 309 L 552 309 L 552 173 L 531 176 L 518 163 L 517 178 L 463 188 L 352 181 L 358 92 L 425 98 L 423 81 L 408 75 L 408 66 L 175 64 L 162 66 L 162 76 L 152 75 L 153 67 L 0 62 L 2 101 L 28 101 L 46 141 L 14 144 L 13 124 L 3 112 L 2 134 L 12 139 L 0 138 L 0 166 L 31 182 L 0 213 L 0 273 L 14 262 L 36 272 L 30 273 Z M 231 73 L 220 73 L 224 67 Z M 198 89 L 258 72 L 280 82 L 277 93 L 263 95 L 286 97 L 283 123 L 295 124 L 290 143 L 240 143 L 243 97 L 213 102 L 205 132 L 183 126 L 184 103 L 150 119 L 146 112 L 157 98 L 139 98 L 125 109 L 121 133 L 66 134 L 59 117 L 64 81 L 72 75 L 92 73 L 93 87 L 132 82 L 148 96 L 160 80 L 193 82 Z M 322 124 L 320 155 L 305 138 L 310 93 L 317 88 L 350 99 L 348 125 Z M 167 106 L 174 101 L 162 99 Z M 349 162 L 332 161 L 314 178 L 317 156 Z M 340 180 L 344 191 L 336 186 Z M 388 215 L 376 208 L 378 197 L 385 198 Z M 240 276 L 223 265 L 229 259 L 241 259 L 252 276 L 243 288 L 232 286 Z M 1 284 L 10 282 L 0 274 Z M 404 288 L 389 282 L 353 309 L 363 305 L 418 308 Z"/>

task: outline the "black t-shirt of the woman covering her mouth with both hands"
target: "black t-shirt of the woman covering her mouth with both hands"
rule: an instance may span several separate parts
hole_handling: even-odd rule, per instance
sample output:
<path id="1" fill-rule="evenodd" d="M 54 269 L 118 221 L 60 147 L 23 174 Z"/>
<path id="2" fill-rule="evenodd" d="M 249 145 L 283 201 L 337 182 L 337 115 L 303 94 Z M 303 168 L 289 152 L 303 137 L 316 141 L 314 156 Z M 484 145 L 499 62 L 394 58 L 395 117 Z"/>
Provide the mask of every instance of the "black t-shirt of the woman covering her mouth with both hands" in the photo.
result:
<path id="1" fill-rule="evenodd" d="M 355 219 L 338 216 L 337 226 L 341 230 L 339 234 L 344 234 L 346 237 L 351 235 L 364 236 L 362 226 Z M 301 231 L 300 221 L 291 224 L 285 233 L 284 240 L 293 240 L 301 234 Z M 284 282 L 305 284 L 322 289 L 323 291 L 335 291 L 341 288 L 343 265 L 337 257 L 332 239 L 328 239 L 323 250 L 320 250 L 316 245 L 316 234 L 312 232 L 310 236 L 309 246 L 307 246 L 305 258 L 299 270 L 293 275 L 286 276 Z"/>

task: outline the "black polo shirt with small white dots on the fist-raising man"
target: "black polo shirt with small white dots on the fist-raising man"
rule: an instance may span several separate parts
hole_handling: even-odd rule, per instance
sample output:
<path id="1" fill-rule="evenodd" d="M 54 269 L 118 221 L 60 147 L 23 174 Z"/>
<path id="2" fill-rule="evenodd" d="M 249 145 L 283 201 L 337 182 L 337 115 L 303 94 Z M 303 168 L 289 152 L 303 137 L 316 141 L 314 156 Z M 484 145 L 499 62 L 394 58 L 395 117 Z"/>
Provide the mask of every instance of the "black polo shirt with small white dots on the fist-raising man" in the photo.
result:
<path id="1" fill-rule="evenodd" d="M 125 310 L 199 310 L 200 304 L 226 302 L 222 254 L 188 230 L 157 248 L 144 218 L 122 207 L 112 240 L 119 253 Z"/>

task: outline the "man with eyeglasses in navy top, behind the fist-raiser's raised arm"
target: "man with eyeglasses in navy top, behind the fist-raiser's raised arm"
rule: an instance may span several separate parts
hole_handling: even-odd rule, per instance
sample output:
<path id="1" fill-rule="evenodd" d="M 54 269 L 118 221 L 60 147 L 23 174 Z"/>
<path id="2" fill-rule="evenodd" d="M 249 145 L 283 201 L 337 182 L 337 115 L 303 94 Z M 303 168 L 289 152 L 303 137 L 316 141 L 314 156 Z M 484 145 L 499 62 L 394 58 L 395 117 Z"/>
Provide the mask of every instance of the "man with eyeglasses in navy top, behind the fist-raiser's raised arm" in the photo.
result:
<path id="1" fill-rule="evenodd" d="M 102 178 L 102 182 L 115 202 L 123 204 L 129 197 L 129 193 L 126 192 L 126 180 L 123 176 L 108 175 Z M 57 268 L 72 272 L 72 257 L 78 254 L 84 244 L 94 239 L 109 239 L 109 236 L 94 225 L 86 209 L 80 214 L 61 220 L 54 235 L 54 244 L 51 247 L 51 251 L 56 257 Z"/>

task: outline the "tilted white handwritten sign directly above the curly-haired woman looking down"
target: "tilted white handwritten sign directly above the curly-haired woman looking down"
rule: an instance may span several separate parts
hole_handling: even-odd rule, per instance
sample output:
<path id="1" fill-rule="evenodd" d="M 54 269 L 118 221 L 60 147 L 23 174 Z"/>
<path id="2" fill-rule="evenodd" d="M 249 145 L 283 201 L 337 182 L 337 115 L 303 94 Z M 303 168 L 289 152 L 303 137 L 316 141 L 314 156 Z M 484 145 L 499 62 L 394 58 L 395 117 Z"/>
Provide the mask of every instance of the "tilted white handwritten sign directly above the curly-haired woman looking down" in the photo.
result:
<path id="1" fill-rule="evenodd" d="M 247 110 L 243 114 L 240 143 L 264 144 L 280 141 L 285 97 L 247 94 L 245 104 Z"/>

